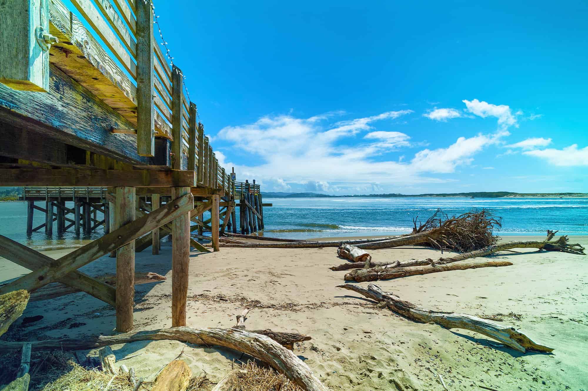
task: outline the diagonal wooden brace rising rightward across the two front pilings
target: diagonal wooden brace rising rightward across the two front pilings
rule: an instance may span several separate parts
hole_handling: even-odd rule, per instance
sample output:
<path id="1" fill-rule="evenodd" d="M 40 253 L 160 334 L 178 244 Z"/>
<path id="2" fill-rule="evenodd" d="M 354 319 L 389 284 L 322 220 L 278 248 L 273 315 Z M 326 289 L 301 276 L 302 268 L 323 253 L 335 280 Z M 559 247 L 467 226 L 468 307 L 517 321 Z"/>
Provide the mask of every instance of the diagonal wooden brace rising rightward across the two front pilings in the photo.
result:
<path id="1" fill-rule="evenodd" d="M 148 215 L 138 218 L 132 223 L 126 224 L 124 227 L 118 228 L 64 255 L 53 261 L 51 265 L 36 269 L 24 277 L 2 286 L 0 288 L 0 295 L 18 289 L 34 291 L 35 289 L 41 288 L 41 286 L 56 282 L 59 278 L 108 254 L 110 251 L 116 250 L 136 238 L 148 234 L 152 230 L 155 230 L 155 228 L 169 223 L 178 216 L 189 213 L 193 208 L 192 194 L 184 195 L 163 205 L 158 210 L 152 211 Z"/>

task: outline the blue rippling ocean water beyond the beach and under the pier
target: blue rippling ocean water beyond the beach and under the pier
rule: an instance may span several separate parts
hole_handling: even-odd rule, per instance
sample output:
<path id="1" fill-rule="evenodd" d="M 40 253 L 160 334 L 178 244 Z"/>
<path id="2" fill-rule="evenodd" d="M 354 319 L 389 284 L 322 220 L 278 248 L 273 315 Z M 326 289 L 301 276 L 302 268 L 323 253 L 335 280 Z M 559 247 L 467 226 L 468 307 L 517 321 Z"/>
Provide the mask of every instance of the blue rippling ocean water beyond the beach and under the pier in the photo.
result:
<path id="1" fill-rule="evenodd" d="M 316 238 L 397 235 L 412 231 L 412 219 L 423 221 L 437 208 L 449 215 L 487 208 L 502 217 L 499 235 L 543 235 L 547 229 L 564 235 L 588 235 L 588 198 L 263 198 L 273 207 L 263 209 L 268 237 Z M 43 203 L 39 206 L 44 207 Z M 66 203 L 69 208 L 73 203 Z M 71 217 L 69 215 L 68 217 Z M 205 215 L 205 219 L 209 215 Z M 102 214 L 98 213 L 98 220 Z M 237 213 L 237 218 L 239 214 Z M 33 226 L 45 223 L 35 211 Z M 239 225 L 239 222 L 237 223 Z M 103 235 L 76 236 L 73 227 L 58 235 L 44 228 L 26 235 L 26 203 L 0 203 L 0 235 L 28 246 L 85 244 Z"/>

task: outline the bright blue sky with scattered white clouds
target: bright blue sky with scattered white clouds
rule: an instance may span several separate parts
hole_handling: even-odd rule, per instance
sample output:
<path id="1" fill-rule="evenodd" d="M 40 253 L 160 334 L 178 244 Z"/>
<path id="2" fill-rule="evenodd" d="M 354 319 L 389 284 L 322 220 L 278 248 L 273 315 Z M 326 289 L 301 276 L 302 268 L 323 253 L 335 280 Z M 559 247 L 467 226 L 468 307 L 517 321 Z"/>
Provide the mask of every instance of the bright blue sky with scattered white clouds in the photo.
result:
<path id="1" fill-rule="evenodd" d="M 219 160 L 266 191 L 588 192 L 586 2 L 156 2 Z"/>

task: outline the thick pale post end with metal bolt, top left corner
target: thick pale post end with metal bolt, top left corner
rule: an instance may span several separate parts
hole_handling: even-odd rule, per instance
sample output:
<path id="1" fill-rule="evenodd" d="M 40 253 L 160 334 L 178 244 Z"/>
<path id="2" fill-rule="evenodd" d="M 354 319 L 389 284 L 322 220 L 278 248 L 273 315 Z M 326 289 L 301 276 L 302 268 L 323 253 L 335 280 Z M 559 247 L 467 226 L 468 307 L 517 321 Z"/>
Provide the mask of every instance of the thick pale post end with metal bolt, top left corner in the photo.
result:
<path id="1" fill-rule="evenodd" d="M 49 34 L 49 0 L 4 1 L 0 11 L 0 83 L 47 92 L 49 46 L 56 42 Z"/>

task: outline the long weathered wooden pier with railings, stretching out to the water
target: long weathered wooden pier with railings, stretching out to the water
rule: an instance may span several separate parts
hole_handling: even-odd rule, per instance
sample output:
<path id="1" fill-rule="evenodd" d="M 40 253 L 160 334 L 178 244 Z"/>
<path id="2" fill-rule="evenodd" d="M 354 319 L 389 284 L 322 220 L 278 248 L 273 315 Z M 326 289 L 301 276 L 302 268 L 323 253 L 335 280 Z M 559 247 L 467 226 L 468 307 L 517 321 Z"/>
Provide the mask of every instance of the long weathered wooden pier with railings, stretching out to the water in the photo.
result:
<path id="1" fill-rule="evenodd" d="M 31 270 L 0 295 L 65 284 L 115 306 L 116 329 L 129 331 L 135 252 L 158 254 L 171 234 L 171 326 L 183 326 L 190 249 L 209 251 L 192 228 L 211 232 L 213 251 L 220 232 L 263 229 L 259 186 L 219 166 L 181 69 L 154 38 L 151 1 L 71 4 L 75 14 L 61 0 L 0 6 L 0 184 L 25 187 L 29 234 L 56 223 L 104 235 L 56 261 L 0 236 L 0 256 Z M 34 213 L 45 223 L 33 227 Z M 116 288 L 78 271 L 108 254 Z"/>

